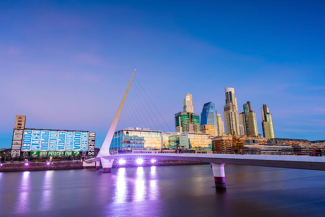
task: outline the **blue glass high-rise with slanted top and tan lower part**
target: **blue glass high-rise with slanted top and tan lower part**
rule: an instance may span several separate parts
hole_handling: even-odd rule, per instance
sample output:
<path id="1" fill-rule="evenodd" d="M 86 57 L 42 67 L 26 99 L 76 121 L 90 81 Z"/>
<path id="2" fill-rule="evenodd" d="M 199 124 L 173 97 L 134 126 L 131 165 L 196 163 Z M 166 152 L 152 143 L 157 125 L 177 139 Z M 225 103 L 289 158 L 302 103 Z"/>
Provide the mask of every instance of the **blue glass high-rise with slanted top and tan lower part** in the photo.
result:
<path id="1" fill-rule="evenodd" d="M 203 105 L 201 113 L 201 131 L 202 133 L 210 134 L 211 136 L 216 136 L 215 128 L 217 125 L 215 118 L 215 106 L 213 102 L 208 102 Z"/>

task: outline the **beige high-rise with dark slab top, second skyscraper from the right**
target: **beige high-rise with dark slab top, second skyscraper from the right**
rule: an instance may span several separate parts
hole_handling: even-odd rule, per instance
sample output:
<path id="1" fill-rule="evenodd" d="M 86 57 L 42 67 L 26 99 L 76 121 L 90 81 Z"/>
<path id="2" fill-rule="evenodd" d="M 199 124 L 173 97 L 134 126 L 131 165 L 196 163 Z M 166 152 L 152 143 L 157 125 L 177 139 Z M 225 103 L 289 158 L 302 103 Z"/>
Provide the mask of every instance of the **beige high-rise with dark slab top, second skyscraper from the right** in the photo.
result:
<path id="1" fill-rule="evenodd" d="M 253 133 L 252 136 L 258 136 L 256 114 L 251 109 L 251 102 L 247 101 L 243 105 L 244 111 L 239 114 L 240 124 L 244 126 L 245 134 Z"/>

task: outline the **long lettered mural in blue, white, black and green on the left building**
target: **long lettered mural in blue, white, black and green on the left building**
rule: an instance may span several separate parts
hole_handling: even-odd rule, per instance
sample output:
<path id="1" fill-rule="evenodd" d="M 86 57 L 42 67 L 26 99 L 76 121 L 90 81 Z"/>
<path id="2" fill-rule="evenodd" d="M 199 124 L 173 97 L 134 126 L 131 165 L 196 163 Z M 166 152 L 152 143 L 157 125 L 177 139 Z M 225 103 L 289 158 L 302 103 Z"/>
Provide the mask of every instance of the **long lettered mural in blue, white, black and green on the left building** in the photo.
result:
<path id="1" fill-rule="evenodd" d="M 28 156 L 39 156 L 44 152 L 48 152 L 44 156 L 52 156 L 51 152 L 55 152 L 53 156 L 95 154 L 95 133 L 88 131 L 14 129 L 13 135 L 12 157 L 21 156 L 20 152 L 28 152 Z M 57 152 L 64 153 L 57 155 Z M 77 152 L 79 154 L 73 154 Z"/>

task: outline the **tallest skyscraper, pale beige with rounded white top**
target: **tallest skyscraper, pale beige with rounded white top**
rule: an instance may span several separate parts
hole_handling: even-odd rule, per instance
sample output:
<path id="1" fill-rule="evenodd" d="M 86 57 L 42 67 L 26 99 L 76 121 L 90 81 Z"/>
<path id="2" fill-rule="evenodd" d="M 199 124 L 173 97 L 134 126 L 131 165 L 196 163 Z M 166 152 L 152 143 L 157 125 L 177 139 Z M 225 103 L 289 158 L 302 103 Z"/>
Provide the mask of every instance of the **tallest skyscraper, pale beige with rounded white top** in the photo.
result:
<path id="1" fill-rule="evenodd" d="M 225 88 L 226 105 L 224 106 L 225 131 L 226 134 L 240 135 L 239 131 L 239 114 L 237 107 L 237 99 L 235 97 L 235 89 L 231 87 Z"/>

